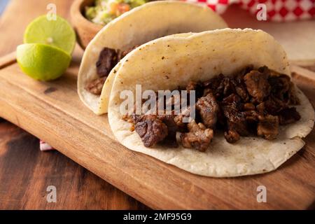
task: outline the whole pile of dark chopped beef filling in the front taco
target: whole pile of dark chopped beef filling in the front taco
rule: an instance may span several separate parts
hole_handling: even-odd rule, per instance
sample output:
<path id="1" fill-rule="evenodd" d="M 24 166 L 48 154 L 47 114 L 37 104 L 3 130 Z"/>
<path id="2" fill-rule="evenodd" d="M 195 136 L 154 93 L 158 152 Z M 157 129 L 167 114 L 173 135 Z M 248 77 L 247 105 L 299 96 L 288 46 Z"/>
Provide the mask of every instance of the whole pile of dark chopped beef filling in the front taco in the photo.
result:
<path id="1" fill-rule="evenodd" d="M 300 104 L 290 77 L 262 66 L 254 70 L 248 66 L 234 76 L 220 74 L 204 82 L 190 82 L 179 90 L 196 91 L 195 105 L 179 115 L 131 115 L 124 120 L 134 124 L 144 146 L 167 144 L 206 151 L 214 137 L 214 130 L 223 130 L 229 143 L 242 136 L 276 139 L 279 125 L 300 120 L 295 107 Z M 191 108 L 196 109 L 195 120 L 184 123 Z M 180 133 L 176 139 L 176 133 Z"/>

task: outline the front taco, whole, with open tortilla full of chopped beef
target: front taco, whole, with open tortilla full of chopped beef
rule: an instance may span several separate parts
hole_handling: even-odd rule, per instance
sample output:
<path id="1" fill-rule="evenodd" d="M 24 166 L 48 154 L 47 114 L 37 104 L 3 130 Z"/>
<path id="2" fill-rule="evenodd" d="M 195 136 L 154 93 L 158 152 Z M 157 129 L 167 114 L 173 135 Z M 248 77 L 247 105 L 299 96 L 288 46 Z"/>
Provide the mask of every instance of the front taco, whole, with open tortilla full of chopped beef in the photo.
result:
<path id="1" fill-rule="evenodd" d="M 168 114 L 154 107 L 122 112 L 123 93 L 137 99 L 137 85 L 141 92 L 194 92 L 195 104 L 175 114 L 170 98 Z M 195 118 L 183 123 L 193 109 Z M 286 52 L 272 36 L 220 29 L 165 36 L 127 55 L 113 81 L 109 124 L 132 151 L 194 174 L 244 176 L 270 172 L 297 153 L 313 128 L 314 109 L 290 80 Z"/>

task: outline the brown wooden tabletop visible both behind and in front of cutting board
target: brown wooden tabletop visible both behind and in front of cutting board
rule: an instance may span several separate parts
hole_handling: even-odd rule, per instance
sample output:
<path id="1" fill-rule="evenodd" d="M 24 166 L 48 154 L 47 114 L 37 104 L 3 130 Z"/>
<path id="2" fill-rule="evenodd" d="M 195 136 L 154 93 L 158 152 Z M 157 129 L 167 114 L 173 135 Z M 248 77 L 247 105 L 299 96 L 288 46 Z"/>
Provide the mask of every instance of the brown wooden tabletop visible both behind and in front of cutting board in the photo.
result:
<path id="1" fill-rule="evenodd" d="M 26 3 L 27 2 L 27 3 Z M 0 57 L 22 43 L 27 24 L 55 3 L 69 17 L 71 0 L 11 0 L 0 18 Z M 21 29 L 22 27 L 22 29 Z M 1 110 L 1 105 L 0 105 Z M 48 203 L 48 186 L 57 203 Z M 39 140 L 0 118 L 0 209 L 148 209 L 57 151 L 39 151 Z"/>

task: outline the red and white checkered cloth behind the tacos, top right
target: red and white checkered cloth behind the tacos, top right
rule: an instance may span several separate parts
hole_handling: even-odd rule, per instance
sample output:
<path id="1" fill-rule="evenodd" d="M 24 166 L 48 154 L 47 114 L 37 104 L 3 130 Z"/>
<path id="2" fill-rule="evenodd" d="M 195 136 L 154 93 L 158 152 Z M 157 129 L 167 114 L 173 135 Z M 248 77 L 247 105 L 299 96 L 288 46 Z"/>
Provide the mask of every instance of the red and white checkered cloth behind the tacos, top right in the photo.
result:
<path id="1" fill-rule="evenodd" d="M 315 0 L 184 0 L 202 3 L 209 6 L 218 14 L 222 14 L 231 4 L 238 4 L 249 13 L 256 15 L 264 3 L 267 10 L 267 20 L 287 22 L 315 18 Z"/>

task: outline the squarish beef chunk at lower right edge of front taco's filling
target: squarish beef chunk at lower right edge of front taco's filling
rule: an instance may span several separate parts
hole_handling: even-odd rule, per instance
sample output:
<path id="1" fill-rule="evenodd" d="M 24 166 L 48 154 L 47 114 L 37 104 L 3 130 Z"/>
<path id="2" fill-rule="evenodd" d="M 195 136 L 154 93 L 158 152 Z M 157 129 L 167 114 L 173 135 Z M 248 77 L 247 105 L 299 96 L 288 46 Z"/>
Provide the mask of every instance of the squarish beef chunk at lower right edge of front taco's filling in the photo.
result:
<path id="1" fill-rule="evenodd" d="M 262 117 L 257 125 L 257 134 L 265 139 L 276 139 L 279 133 L 278 116 L 267 115 Z"/>

